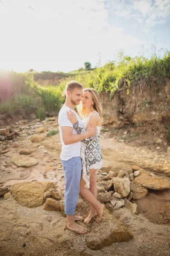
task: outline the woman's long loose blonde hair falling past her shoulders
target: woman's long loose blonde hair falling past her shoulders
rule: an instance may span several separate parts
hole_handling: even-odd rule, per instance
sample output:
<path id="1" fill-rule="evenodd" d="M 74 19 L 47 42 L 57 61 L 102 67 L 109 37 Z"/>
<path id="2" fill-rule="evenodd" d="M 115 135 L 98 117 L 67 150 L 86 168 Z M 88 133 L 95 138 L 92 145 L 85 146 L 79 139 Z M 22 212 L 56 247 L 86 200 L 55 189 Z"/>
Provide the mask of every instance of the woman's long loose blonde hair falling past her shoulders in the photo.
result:
<path id="1" fill-rule="evenodd" d="M 93 108 L 95 109 L 95 111 L 97 111 L 99 113 L 99 116 L 101 118 L 101 122 L 103 121 L 103 117 L 102 117 L 102 105 L 101 105 L 101 102 L 100 102 L 100 98 L 99 98 L 99 93 L 95 90 L 95 89 L 92 89 L 92 88 L 85 88 L 83 90 L 83 93 L 85 91 L 88 91 L 89 93 L 91 93 L 91 96 L 92 96 L 92 100 L 94 102 L 94 105 Z M 79 116 L 81 118 L 83 118 L 84 116 L 87 115 L 87 110 L 85 107 L 82 106 L 82 101 L 80 102 L 79 106 L 77 107 L 77 111 L 79 113 Z"/>

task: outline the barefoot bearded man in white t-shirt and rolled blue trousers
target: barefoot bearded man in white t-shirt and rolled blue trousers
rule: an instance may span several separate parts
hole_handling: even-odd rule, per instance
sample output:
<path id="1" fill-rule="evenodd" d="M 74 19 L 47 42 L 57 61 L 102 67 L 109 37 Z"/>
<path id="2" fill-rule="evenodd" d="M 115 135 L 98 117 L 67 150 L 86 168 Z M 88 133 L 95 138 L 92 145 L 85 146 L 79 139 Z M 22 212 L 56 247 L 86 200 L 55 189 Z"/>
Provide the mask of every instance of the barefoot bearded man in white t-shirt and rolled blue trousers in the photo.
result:
<path id="1" fill-rule="evenodd" d="M 70 81 L 66 84 L 66 101 L 59 111 L 59 134 L 62 143 L 61 160 L 65 176 L 64 206 L 66 216 L 66 226 L 79 234 L 84 234 L 87 230 L 78 225 L 75 221 L 81 219 L 75 216 L 76 205 L 79 198 L 79 183 L 82 174 L 82 161 L 80 158 L 81 140 L 92 137 L 96 134 L 96 128 L 89 128 L 85 133 L 77 134 L 73 124 L 67 118 L 67 111 L 74 111 L 75 105 L 79 105 L 82 99 L 83 87 L 77 81 Z M 76 112 L 75 112 L 76 113 Z M 77 120 L 82 125 L 82 120 L 77 115 Z"/>

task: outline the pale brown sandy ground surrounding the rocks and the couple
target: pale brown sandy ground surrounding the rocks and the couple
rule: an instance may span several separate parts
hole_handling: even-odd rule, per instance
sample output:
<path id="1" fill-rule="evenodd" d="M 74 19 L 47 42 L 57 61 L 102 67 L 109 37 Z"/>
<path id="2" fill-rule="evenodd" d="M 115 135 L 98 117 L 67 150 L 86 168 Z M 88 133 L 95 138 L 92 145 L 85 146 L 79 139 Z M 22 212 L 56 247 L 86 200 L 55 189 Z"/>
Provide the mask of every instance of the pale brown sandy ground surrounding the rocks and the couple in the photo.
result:
<path id="1" fill-rule="evenodd" d="M 8 150 L 0 156 L 0 186 L 10 187 L 16 182 L 31 180 L 52 181 L 57 189 L 63 191 L 64 176 L 59 158 L 59 134 L 45 137 L 40 143 L 32 143 L 32 134 L 42 124 L 34 121 L 20 125 L 23 130 L 19 138 L 3 141 L 0 145 L 0 150 Z M 54 129 L 49 122 L 44 125 L 48 130 Z M 114 135 L 111 137 L 108 134 L 102 134 L 100 143 L 104 163 L 102 170 L 97 171 L 98 178 L 102 172 L 129 170 L 132 164 L 136 164 L 147 172 L 170 180 L 170 176 L 166 174 L 170 171 L 168 152 L 159 151 L 156 147 L 139 147 L 133 142 L 120 142 Z M 17 167 L 10 162 L 10 157 L 19 154 L 23 148 L 35 150 L 29 156 L 38 159 L 38 165 L 25 168 Z M 0 255 L 170 256 L 170 189 L 163 192 L 149 191 L 146 198 L 135 203 L 138 205 L 138 215 L 132 215 L 125 208 L 113 212 L 129 227 L 134 238 L 126 243 L 115 243 L 93 251 L 87 248 L 84 236 L 63 229 L 65 218 L 61 212 L 45 211 L 43 205 L 27 208 L 12 198 L 5 201 L 0 197 Z M 89 225 L 93 227 L 93 222 Z M 58 245 L 57 241 L 62 240 L 67 242 L 63 242 L 62 246 L 61 243 Z"/>

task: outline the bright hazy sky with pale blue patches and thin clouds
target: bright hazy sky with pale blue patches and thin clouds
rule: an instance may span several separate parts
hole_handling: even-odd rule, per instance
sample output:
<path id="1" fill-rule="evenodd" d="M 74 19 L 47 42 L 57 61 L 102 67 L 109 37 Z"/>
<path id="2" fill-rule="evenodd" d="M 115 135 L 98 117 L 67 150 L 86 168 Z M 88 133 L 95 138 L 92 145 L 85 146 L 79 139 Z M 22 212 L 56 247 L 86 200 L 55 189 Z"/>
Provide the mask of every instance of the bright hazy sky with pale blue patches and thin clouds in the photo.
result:
<path id="1" fill-rule="evenodd" d="M 170 0 L 0 0 L 0 69 L 69 72 L 170 50 Z"/>

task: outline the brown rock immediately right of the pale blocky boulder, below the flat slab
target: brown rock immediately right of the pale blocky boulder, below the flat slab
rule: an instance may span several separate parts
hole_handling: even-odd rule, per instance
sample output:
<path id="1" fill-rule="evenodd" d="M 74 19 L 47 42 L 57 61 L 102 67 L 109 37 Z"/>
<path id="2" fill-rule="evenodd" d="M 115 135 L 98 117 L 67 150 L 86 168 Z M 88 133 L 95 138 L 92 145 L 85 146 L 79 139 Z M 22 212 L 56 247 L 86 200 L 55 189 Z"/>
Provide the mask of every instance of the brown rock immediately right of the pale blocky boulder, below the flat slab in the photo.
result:
<path id="1" fill-rule="evenodd" d="M 135 180 L 130 182 L 130 191 L 133 193 L 133 199 L 141 199 L 147 195 L 147 189 L 136 183 Z"/>

